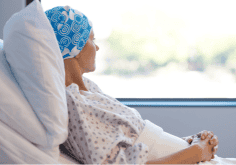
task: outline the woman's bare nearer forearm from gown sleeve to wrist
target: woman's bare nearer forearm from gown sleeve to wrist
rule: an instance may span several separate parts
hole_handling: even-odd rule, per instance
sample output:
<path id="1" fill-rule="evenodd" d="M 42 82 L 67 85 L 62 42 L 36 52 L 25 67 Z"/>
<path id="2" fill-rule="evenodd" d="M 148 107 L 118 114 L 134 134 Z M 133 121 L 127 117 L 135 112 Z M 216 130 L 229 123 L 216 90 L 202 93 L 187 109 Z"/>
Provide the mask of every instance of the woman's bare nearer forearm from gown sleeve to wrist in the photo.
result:
<path id="1" fill-rule="evenodd" d="M 148 161 L 146 164 L 196 164 L 201 162 L 201 155 L 201 150 L 195 144 L 171 155 Z"/>

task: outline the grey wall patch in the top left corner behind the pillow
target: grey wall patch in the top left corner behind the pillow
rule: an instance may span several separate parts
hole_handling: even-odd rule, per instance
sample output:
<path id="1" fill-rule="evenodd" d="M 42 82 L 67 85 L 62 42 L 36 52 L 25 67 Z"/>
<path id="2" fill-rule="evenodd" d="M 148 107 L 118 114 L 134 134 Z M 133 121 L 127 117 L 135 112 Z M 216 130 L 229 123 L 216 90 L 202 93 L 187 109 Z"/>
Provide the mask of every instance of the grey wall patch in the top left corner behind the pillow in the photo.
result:
<path id="1" fill-rule="evenodd" d="M 0 0 L 0 38 L 3 39 L 3 27 L 7 20 L 25 7 L 26 0 Z"/>

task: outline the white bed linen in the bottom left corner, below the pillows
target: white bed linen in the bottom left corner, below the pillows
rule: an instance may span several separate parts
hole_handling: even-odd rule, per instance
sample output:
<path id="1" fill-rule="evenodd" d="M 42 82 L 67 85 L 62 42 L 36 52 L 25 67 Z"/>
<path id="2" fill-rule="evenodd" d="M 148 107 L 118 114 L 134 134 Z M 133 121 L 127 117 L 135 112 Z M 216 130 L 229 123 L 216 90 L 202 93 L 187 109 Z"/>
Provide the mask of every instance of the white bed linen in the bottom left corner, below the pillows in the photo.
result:
<path id="1" fill-rule="evenodd" d="M 58 164 L 0 121 L 0 164 Z"/>

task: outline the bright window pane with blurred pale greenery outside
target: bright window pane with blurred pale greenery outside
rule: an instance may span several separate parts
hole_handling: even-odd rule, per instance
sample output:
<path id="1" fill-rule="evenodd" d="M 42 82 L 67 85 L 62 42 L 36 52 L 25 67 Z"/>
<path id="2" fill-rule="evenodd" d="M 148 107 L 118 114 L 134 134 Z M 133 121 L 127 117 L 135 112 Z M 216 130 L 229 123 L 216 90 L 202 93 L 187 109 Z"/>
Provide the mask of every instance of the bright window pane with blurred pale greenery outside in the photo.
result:
<path id="1" fill-rule="evenodd" d="M 235 98 L 235 0 L 41 0 L 94 26 L 96 70 L 115 98 Z"/>

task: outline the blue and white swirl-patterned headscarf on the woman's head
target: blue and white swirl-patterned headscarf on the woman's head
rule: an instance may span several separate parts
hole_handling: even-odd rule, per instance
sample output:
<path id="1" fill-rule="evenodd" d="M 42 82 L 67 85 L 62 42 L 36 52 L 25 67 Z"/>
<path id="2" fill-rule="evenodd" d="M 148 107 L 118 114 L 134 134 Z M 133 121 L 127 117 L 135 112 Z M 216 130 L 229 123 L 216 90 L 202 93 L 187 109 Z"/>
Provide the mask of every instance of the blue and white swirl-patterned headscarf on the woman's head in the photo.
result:
<path id="1" fill-rule="evenodd" d="M 63 59 L 77 56 L 89 39 L 92 23 L 70 6 L 54 7 L 45 14 L 54 29 Z"/>

